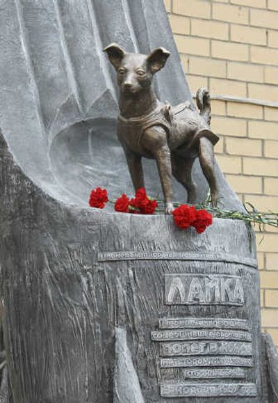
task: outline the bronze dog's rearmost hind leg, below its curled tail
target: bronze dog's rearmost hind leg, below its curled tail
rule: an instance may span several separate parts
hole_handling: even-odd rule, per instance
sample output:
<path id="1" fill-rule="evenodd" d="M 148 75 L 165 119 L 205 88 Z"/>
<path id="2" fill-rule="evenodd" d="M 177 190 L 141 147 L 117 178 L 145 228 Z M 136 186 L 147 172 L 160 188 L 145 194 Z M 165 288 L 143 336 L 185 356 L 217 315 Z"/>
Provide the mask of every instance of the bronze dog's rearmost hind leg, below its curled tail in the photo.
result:
<path id="1" fill-rule="evenodd" d="M 218 199 L 218 185 L 214 173 L 213 144 L 210 140 L 206 139 L 206 137 L 202 137 L 199 141 L 199 161 L 211 189 L 211 203 L 215 206 Z"/>

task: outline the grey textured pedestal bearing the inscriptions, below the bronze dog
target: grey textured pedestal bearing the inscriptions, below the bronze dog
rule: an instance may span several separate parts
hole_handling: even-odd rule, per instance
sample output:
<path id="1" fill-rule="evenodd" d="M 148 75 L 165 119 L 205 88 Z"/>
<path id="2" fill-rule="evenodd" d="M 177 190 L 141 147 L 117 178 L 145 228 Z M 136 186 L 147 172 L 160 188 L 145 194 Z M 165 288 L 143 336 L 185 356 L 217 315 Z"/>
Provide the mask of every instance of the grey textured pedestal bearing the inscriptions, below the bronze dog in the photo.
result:
<path id="1" fill-rule="evenodd" d="M 254 237 L 215 219 L 79 209 L 2 143 L 1 267 L 15 403 L 268 402 Z"/>

